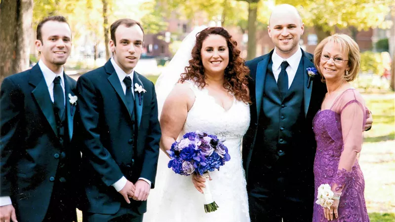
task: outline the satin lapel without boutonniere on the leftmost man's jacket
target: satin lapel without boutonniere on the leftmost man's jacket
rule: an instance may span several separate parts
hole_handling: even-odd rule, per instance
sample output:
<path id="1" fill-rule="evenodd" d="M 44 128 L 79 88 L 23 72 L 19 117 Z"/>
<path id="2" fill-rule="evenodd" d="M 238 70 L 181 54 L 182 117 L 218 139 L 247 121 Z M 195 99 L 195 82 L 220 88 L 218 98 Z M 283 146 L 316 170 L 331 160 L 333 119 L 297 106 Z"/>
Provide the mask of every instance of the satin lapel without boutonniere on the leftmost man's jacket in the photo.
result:
<path id="1" fill-rule="evenodd" d="M 31 75 L 29 79 L 29 84 L 35 87 L 35 89 L 32 91 L 32 94 L 36 99 L 40 110 L 44 114 L 49 125 L 51 126 L 53 132 L 55 133 L 55 135 L 58 135 L 55 113 L 53 111 L 53 103 L 51 101 L 51 97 L 48 92 L 48 86 L 46 85 L 39 64 L 36 64 L 36 66 L 34 66 L 30 72 Z"/>

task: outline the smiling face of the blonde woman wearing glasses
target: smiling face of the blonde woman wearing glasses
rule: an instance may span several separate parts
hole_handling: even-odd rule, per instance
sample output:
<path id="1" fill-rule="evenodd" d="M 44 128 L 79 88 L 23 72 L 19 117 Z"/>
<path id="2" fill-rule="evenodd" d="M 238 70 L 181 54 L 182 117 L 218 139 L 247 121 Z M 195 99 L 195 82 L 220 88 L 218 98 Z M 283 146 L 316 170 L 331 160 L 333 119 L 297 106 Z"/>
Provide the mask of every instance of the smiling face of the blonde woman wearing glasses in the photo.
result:
<path id="1" fill-rule="evenodd" d="M 342 50 L 339 44 L 327 42 L 322 49 L 319 70 L 326 81 L 336 81 L 344 78 L 349 71 L 348 52 Z"/>

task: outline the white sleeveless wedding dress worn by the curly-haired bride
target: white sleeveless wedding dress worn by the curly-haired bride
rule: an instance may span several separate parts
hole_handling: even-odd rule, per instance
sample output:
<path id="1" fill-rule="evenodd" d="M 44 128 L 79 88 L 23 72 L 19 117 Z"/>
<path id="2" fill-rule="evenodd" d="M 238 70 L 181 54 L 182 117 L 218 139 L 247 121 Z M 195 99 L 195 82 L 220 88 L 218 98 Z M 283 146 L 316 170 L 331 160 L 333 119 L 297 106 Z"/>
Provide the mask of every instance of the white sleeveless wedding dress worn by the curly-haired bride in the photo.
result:
<path id="1" fill-rule="evenodd" d="M 246 181 L 241 159 L 241 139 L 250 122 L 249 106 L 234 99 L 226 111 L 216 103 L 207 89 L 198 89 L 186 81 L 195 93 L 195 103 L 188 112 L 181 135 L 187 132 L 207 132 L 225 139 L 231 160 L 220 170 L 209 172 L 210 189 L 219 208 L 204 212 L 203 194 L 197 191 L 190 176 L 175 174 L 167 168 L 170 160 L 161 151 L 156 187 L 148 198 L 144 222 L 250 222 Z"/>

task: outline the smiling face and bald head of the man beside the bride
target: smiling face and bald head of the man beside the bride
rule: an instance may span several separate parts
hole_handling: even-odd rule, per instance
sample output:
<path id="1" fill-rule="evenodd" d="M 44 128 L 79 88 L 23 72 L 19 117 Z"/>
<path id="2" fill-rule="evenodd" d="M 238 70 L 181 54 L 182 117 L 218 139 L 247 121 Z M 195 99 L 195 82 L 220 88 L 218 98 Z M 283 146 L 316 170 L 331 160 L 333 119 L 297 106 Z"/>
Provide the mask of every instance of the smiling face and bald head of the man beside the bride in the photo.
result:
<path id="1" fill-rule="evenodd" d="M 277 9 L 270 17 L 269 36 L 276 45 L 276 52 L 283 59 L 292 56 L 299 47 L 305 30 L 302 20 L 294 8 Z"/>

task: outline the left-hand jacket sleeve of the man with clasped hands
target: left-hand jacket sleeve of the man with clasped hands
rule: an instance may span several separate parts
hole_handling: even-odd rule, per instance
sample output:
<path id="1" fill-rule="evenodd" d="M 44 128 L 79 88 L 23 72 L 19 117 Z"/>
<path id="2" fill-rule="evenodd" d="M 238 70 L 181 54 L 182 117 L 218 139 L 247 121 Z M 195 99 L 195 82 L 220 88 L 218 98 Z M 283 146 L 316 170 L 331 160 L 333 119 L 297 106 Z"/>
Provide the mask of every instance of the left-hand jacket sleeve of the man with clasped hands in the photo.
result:
<path id="1" fill-rule="evenodd" d="M 107 186 L 113 185 L 123 177 L 118 164 L 100 140 L 99 117 L 102 102 L 92 82 L 80 76 L 77 82 L 78 131 L 82 142 L 82 154 L 86 155 L 93 169 L 101 176 Z"/>

